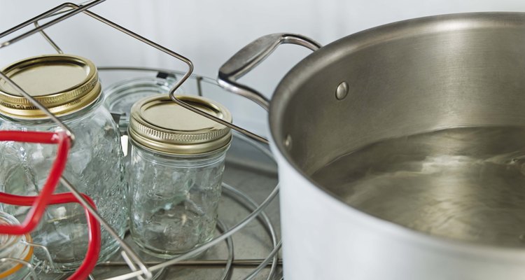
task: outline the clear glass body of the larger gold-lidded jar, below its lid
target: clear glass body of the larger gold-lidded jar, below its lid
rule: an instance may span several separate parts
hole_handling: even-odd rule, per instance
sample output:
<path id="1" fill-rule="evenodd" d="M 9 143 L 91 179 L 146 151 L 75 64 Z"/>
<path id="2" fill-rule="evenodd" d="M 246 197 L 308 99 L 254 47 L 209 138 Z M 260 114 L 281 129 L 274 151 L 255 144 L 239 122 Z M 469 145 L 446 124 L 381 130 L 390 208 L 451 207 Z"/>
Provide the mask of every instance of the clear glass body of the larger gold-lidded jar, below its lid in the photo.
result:
<path id="1" fill-rule="evenodd" d="M 127 185 L 124 180 L 123 153 L 118 128 L 111 114 L 102 106 L 102 98 L 80 111 L 60 117 L 75 134 L 63 176 L 81 193 L 89 195 L 99 213 L 120 236 L 125 233 Z M 50 132 L 58 127 L 51 120 L 20 120 L 1 116 L 0 130 Z M 15 195 L 38 195 L 55 160 L 56 145 L 0 142 L 0 190 Z M 55 193 L 68 192 L 57 186 Z M 4 211 L 23 221 L 29 207 L 3 206 Z M 71 271 L 78 267 L 87 251 L 88 231 L 85 212 L 80 204 L 57 204 L 47 207 L 33 241 L 48 248 L 55 262 L 47 271 Z M 107 260 L 118 250 L 118 242 L 102 228 L 99 261 Z M 36 260 L 46 260 L 37 250 Z M 48 263 L 48 262 L 45 262 Z"/>

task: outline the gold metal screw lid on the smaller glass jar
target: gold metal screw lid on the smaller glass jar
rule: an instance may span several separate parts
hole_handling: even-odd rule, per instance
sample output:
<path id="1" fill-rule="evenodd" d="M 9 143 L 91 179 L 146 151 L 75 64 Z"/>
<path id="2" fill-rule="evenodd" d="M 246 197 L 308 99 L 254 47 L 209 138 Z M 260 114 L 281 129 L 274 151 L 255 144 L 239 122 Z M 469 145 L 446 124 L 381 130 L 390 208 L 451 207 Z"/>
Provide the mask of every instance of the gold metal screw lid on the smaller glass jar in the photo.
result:
<path id="1" fill-rule="evenodd" d="M 177 95 L 197 109 L 232 122 L 230 111 L 210 99 Z M 216 151 L 230 144 L 230 128 L 200 116 L 169 99 L 157 95 L 139 100 L 132 106 L 130 139 L 149 150 L 171 155 L 197 155 Z"/>

